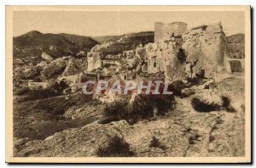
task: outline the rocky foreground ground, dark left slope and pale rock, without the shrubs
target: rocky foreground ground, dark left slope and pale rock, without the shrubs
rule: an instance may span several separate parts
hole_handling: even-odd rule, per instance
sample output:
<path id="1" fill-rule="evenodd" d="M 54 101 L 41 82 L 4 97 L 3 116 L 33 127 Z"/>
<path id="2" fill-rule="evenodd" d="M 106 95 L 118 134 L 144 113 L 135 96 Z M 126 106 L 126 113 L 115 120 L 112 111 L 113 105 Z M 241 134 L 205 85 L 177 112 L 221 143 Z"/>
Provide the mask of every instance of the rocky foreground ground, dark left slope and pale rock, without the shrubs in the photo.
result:
<path id="1" fill-rule="evenodd" d="M 134 156 L 243 156 L 244 74 L 209 83 L 205 80 L 185 89 L 183 92 L 193 94 L 177 97 L 176 108 L 166 115 L 133 125 L 125 120 L 98 124 L 104 104 L 81 100 L 79 95 L 15 104 L 14 155 L 96 156 L 96 148 L 119 135 L 130 144 Z M 197 112 L 191 106 L 192 98 L 219 103 L 222 95 L 230 98 L 235 112 Z M 79 103 L 74 106 L 74 102 Z M 52 109 L 44 109 L 46 106 Z M 157 145 L 150 145 L 153 138 Z"/>

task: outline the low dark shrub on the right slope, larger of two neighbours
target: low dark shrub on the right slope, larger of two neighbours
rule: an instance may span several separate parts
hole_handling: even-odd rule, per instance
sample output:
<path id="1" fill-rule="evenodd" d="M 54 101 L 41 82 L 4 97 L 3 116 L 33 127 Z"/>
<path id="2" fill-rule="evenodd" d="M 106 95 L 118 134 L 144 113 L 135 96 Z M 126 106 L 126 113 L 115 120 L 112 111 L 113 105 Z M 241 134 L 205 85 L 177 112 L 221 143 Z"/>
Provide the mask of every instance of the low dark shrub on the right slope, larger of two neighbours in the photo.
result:
<path id="1" fill-rule="evenodd" d="M 219 110 L 218 104 L 202 102 L 199 98 L 192 98 L 191 105 L 198 112 L 210 112 Z"/>

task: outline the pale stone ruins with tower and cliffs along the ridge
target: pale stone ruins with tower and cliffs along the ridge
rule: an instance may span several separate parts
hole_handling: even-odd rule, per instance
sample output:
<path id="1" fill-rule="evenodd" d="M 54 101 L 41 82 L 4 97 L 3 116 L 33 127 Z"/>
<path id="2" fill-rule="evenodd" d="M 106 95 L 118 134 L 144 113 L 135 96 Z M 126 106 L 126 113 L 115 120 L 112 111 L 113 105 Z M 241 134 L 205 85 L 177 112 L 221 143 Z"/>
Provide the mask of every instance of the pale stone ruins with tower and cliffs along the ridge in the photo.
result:
<path id="1" fill-rule="evenodd" d="M 228 67 L 233 65 L 224 62 L 224 56 L 229 54 L 226 48 L 227 38 L 221 23 L 187 30 L 183 22 L 155 22 L 154 42 L 105 58 L 100 51 L 91 51 L 87 73 L 119 75 L 124 80 L 161 75 L 168 81 L 197 76 L 214 78 L 218 73 L 230 72 Z"/>

